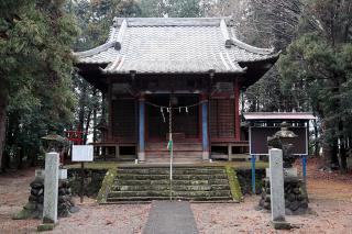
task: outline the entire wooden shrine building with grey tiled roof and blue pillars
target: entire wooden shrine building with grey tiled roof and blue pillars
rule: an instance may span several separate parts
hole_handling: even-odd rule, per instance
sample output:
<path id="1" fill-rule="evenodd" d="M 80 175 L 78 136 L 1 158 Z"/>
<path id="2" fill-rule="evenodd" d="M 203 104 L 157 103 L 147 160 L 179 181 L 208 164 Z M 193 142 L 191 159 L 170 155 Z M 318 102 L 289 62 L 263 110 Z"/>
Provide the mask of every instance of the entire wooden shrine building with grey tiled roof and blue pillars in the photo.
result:
<path id="1" fill-rule="evenodd" d="M 166 163 L 169 131 L 176 163 L 245 153 L 240 92 L 278 54 L 239 41 L 231 24 L 220 18 L 119 18 L 105 44 L 75 53 L 79 74 L 108 107 L 101 140 L 94 143 L 98 157 Z"/>

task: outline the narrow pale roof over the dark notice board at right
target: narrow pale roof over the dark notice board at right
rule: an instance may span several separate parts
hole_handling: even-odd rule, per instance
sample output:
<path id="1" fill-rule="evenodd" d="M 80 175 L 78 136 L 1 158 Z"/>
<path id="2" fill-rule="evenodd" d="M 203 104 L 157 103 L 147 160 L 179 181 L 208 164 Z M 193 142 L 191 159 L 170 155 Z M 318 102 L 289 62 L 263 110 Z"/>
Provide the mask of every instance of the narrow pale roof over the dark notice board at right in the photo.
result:
<path id="1" fill-rule="evenodd" d="M 256 120 L 316 120 L 309 112 L 249 112 L 243 113 L 246 121 Z"/>

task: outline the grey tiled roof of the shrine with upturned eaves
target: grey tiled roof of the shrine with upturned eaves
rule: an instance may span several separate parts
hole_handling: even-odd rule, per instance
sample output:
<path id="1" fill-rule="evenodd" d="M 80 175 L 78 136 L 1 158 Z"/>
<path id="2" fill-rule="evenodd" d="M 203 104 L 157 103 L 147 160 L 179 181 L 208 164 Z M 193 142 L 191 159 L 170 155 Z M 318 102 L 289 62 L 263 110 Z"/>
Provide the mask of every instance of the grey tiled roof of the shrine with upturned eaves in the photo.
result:
<path id="1" fill-rule="evenodd" d="M 278 56 L 240 42 L 213 18 L 116 19 L 107 43 L 75 55 L 79 64 L 107 65 L 106 74 L 244 73 L 239 63 Z"/>

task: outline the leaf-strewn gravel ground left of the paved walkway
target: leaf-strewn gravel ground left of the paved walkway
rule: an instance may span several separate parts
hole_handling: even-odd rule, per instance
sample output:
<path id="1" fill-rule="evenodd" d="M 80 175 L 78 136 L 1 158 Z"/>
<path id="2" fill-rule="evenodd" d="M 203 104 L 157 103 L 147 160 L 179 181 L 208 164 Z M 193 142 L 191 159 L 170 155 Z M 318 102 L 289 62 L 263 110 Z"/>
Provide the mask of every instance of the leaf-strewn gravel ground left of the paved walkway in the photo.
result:
<path id="1" fill-rule="evenodd" d="M 41 220 L 12 220 L 22 210 L 30 194 L 34 169 L 0 176 L 0 234 L 37 233 Z M 76 198 L 80 211 L 70 218 L 59 219 L 59 225 L 51 233 L 65 234 L 134 234 L 141 233 L 146 223 L 150 204 L 98 205 L 85 198 L 82 204 Z"/>

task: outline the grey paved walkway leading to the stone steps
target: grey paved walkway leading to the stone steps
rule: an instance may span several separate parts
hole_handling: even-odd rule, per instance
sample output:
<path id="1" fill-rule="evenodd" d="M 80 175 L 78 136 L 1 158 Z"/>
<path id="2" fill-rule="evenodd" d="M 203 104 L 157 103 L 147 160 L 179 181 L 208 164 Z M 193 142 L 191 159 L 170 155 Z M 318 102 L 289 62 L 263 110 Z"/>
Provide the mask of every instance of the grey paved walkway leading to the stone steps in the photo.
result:
<path id="1" fill-rule="evenodd" d="M 153 201 L 143 234 L 197 234 L 187 201 Z"/>

